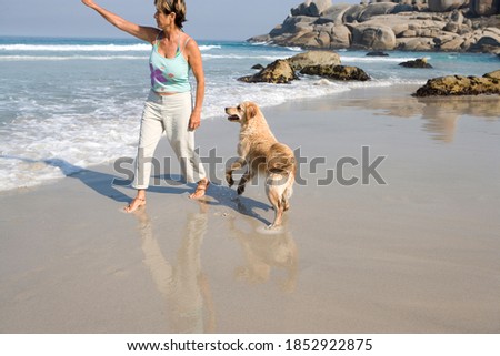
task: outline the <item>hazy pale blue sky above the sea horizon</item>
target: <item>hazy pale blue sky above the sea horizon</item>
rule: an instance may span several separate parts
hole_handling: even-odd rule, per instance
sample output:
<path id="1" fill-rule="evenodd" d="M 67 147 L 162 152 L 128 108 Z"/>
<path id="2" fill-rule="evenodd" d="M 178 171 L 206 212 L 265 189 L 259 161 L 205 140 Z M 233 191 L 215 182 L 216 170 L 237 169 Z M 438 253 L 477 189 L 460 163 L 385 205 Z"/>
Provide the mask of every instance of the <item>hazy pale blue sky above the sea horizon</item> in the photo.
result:
<path id="1" fill-rule="evenodd" d="M 129 21 L 156 26 L 153 0 L 98 0 Z M 184 30 L 199 40 L 247 40 L 269 33 L 303 0 L 186 0 Z M 354 0 L 339 2 L 359 3 Z M 80 0 L 0 0 L 0 35 L 123 38 Z"/>

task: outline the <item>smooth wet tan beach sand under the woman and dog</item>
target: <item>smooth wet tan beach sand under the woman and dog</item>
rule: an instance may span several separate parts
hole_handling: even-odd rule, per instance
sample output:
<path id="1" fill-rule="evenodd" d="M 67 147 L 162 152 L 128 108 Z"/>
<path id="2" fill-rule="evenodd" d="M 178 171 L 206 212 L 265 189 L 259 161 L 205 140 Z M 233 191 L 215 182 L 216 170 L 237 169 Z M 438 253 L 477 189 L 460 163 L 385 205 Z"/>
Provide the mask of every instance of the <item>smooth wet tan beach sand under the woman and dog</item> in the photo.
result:
<path id="1" fill-rule="evenodd" d="M 303 161 L 277 232 L 263 182 L 196 202 L 173 164 L 136 214 L 112 164 L 1 193 L 0 333 L 500 333 L 500 99 L 416 89 L 263 109 Z M 222 115 L 197 144 L 226 162 Z"/>

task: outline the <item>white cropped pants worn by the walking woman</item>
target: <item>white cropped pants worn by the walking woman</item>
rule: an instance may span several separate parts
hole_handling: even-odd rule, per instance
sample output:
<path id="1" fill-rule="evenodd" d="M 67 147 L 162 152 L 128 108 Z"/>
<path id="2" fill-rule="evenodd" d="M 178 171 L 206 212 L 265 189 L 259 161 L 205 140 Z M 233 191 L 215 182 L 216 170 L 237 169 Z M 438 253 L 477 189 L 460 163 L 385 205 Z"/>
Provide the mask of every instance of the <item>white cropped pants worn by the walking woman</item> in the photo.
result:
<path id="1" fill-rule="evenodd" d="M 132 182 L 134 189 L 149 186 L 154 151 L 163 132 L 176 152 L 186 181 L 194 183 L 207 176 L 201 160 L 194 152 L 194 132 L 189 130 L 191 111 L 191 92 L 158 95 L 150 91 L 141 120 Z"/>

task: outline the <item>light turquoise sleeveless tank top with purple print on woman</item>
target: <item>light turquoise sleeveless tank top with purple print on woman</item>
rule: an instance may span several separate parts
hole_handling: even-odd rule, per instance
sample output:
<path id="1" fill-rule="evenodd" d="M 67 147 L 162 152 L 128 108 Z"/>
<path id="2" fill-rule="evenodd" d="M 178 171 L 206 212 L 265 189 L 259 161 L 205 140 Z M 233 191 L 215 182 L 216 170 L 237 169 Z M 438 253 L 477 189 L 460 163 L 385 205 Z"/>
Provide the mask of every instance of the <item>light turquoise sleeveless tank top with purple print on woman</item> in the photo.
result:
<path id="1" fill-rule="evenodd" d="M 151 70 L 151 89 L 157 93 L 183 93 L 191 91 L 189 82 L 188 61 L 180 49 L 180 37 L 174 58 L 166 58 L 158 52 L 159 37 L 153 43 L 151 55 L 149 58 L 149 68 Z M 183 48 L 188 44 L 190 38 L 186 41 Z"/>

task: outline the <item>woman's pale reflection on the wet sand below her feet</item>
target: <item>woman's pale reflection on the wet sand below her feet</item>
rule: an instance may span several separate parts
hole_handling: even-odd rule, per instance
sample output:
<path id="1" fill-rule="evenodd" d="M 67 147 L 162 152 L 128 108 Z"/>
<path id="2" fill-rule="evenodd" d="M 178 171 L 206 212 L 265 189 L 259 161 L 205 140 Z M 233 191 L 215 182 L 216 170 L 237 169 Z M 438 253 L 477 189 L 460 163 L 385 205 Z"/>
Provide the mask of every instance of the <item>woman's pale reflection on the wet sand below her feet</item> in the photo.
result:
<path id="1" fill-rule="evenodd" d="M 199 213 L 188 213 L 184 234 L 171 264 L 154 237 L 144 208 L 134 212 L 140 223 L 144 264 L 167 301 L 172 333 L 213 333 L 216 313 L 210 285 L 201 268 L 200 248 L 207 232 L 207 204 L 200 202 Z"/>

